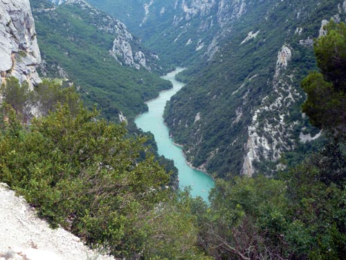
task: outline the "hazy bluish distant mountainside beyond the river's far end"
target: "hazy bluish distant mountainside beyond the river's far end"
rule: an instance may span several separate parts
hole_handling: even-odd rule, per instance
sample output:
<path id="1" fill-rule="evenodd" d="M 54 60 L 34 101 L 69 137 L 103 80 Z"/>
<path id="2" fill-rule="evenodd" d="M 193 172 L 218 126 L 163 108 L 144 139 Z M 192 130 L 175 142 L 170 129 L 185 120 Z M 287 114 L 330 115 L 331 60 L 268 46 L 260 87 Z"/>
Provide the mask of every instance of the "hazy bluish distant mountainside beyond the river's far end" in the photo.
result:
<path id="1" fill-rule="evenodd" d="M 88 0 L 119 19 L 170 64 L 209 59 L 248 9 L 245 0 Z"/>

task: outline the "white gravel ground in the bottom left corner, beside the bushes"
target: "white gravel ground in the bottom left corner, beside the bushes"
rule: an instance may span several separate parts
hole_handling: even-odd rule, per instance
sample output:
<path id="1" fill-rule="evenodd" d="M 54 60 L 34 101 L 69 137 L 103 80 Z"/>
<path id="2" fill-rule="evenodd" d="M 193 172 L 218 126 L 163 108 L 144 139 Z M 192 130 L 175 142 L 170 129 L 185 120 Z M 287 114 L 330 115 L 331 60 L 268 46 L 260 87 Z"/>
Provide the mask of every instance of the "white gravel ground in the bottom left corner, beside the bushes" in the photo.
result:
<path id="1" fill-rule="evenodd" d="M 90 250 L 77 236 L 62 228 L 49 228 L 46 221 L 37 218 L 35 210 L 24 198 L 15 196 L 15 192 L 8 189 L 6 184 L 0 183 L 0 260 L 29 259 L 23 254 L 23 258 L 9 257 L 8 252 L 30 250 L 51 252 L 56 259 L 64 260 L 114 260 L 113 257 Z M 47 255 L 42 259 L 55 258 Z"/>

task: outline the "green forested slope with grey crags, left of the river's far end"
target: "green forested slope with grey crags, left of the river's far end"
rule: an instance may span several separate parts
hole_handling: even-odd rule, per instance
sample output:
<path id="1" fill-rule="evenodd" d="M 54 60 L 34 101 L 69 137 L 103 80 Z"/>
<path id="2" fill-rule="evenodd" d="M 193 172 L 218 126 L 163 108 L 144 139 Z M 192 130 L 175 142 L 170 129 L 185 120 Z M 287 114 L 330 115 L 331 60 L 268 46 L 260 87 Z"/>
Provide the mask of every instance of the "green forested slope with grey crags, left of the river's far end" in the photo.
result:
<path id="1" fill-rule="evenodd" d="M 155 55 L 143 50 L 120 21 L 84 1 L 53 6 L 32 1 L 46 77 L 68 77 L 86 104 L 98 104 L 102 114 L 119 120 L 145 111 L 146 100 L 170 87 L 149 70 Z"/>

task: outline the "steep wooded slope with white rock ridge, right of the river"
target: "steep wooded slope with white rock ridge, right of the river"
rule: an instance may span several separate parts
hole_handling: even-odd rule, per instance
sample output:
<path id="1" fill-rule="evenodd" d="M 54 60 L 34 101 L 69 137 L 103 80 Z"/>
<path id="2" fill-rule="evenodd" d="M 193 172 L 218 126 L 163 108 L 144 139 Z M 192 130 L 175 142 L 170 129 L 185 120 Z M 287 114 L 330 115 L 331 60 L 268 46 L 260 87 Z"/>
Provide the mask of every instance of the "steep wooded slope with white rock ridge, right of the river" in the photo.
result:
<path id="1" fill-rule="evenodd" d="M 346 11 L 345 2 L 325 0 L 246 6 L 227 44 L 190 71 L 193 80 L 165 112 L 188 160 L 217 176 L 270 174 L 284 151 L 318 137 L 300 112 L 300 80 L 315 69 L 311 45 L 321 22 L 344 20 Z"/>

